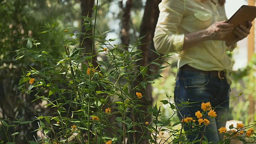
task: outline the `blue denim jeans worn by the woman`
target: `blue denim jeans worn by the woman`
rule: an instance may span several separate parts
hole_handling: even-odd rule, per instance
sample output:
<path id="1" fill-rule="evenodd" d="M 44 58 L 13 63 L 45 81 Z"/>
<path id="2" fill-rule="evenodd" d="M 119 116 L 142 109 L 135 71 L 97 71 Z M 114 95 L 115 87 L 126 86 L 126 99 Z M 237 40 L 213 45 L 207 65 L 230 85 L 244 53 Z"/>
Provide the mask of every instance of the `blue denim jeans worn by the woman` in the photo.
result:
<path id="1" fill-rule="evenodd" d="M 208 142 L 219 142 L 222 140 L 223 135 L 218 134 L 220 127 L 226 126 L 228 108 L 230 99 L 230 85 L 227 83 L 226 78 L 220 79 L 217 76 L 211 74 L 205 74 L 194 70 L 178 70 L 176 77 L 176 86 L 174 90 L 174 101 L 176 108 L 180 111 L 178 116 L 180 120 L 182 116 L 192 117 L 196 121 L 198 118 L 195 116 L 195 112 L 201 109 L 202 102 L 210 102 L 215 109 L 217 117 L 209 118 L 210 124 L 206 127 L 204 136 L 208 139 Z M 181 102 L 195 102 L 189 105 L 182 104 Z M 185 106 L 185 107 L 184 107 Z M 182 116 L 181 116 L 182 115 Z M 196 122 L 198 124 L 198 121 Z M 185 126 L 184 130 L 191 130 L 191 127 Z M 199 132 L 187 133 L 187 138 L 190 142 L 193 140 L 200 140 L 204 127 Z M 198 142 L 199 144 L 200 142 Z"/>

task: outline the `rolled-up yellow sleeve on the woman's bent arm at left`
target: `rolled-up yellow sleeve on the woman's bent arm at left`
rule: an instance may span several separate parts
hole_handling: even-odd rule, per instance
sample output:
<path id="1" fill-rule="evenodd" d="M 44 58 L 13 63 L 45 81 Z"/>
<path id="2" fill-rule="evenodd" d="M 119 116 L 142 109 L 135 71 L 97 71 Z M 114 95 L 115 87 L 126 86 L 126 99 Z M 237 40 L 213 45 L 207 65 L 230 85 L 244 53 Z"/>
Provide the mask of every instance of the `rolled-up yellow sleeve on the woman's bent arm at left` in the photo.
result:
<path id="1" fill-rule="evenodd" d="M 161 54 L 180 53 L 184 34 L 178 34 L 178 27 L 186 10 L 184 0 L 162 0 L 159 4 L 159 18 L 154 34 L 154 46 Z"/>

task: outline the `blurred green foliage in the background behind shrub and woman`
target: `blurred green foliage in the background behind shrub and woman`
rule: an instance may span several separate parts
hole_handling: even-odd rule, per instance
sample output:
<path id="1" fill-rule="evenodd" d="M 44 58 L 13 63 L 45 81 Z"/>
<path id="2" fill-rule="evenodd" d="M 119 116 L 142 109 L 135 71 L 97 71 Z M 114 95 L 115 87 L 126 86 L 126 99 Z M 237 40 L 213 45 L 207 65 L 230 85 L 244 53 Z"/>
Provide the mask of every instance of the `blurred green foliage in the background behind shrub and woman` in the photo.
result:
<path id="1" fill-rule="evenodd" d="M 2 119 L 13 121 L 18 118 L 26 121 L 33 120 L 35 116 L 53 113 L 43 106 L 44 102 L 41 100 L 30 103 L 34 97 L 29 94 L 20 95 L 17 85 L 22 71 L 28 70 L 30 66 L 37 67 L 39 64 L 29 57 L 15 60 L 19 57 L 16 56 L 17 53 L 15 51 L 20 46 L 26 45 L 21 39 L 31 37 L 39 40 L 46 51 L 51 52 L 56 58 L 61 56 L 64 51 L 58 39 L 52 33 L 40 33 L 46 30 L 42 26 L 47 22 L 49 24 L 56 22 L 55 29 L 58 31 L 58 36 L 61 40 L 64 38 L 74 39 L 75 37 L 68 33 L 78 33 L 82 30 L 81 16 L 83 15 L 83 8 L 81 8 L 81 2 L 86 3 L 89 1 L 92 2 L 93 0 L 0 0 L 0 117 Z M 148 1 L 132 0 L 132 7 L 129 11 L 130 19 L 128 20 L 129 44 L 134 43 L 140 34 L 143 34 L 141 25 L 146 2 Z M 160 2 L 160 0 L 153 1 Z M 111 30 L 108 32 L 106 39 L 119 38 L 113 42 L 117 45 L 122 43 L 120 37 L 123 36 L 122 30 L 125 29 L 122 27 L 124 26 L 122 22 L 124 21 L 123 16 L 126 12 L 127 2 L 129 0 L 99 0 L 100 8 L 98 10 L 96 28 L 100 33 Z M 155 21 L 157 20 L 157 18 L 154 19 Z M 154 30 L 154 27 L 150 28 Z M 68 33 L 64 32 L 66 29 Z M 97 59 L 106 60 L 104 55 L 98 55 Z M 173 59 L 168 59 L 172 66 L 162 70 L 160 73 L 164 78 L 155 80 L 156 83 L 152 84 L 152 89 L 150 90 L 152 91 L 153 103 L 158 100 L 169 100 L 166 95 L 172 96 L 170 101 L 173 101 L 175 74 L 177 71 L 176 59 L 177 56 L 175 54 Z M 255 69 L 256 56 L 246 68 L 240 69 L 233 74 L 234 82 L 232 84 L 231 97 L 237 97 L 241 92 L 243 94 L 231 100 L 230 119 L 242 120 L 245 124 L 256 120 L 255 114 L 248 115 L 248 96 L 252 94 L 255 98 L 256 95 Z M 158 104 L 161 105 L 160 103 Z M 166 117 L 172 114 L 168 107 L 164 107 L 163 111 Z M 174 118 L 174 120 L 177 119 Z M 27 139 L 33 140 L 33 135 L 37 136 L 35 131 L 37 128 L 38 124 L 36 122 L 17 127 L 16 131 L 20 132 L 16 137 L 17 144 L 27 143 Z M 0 138 L 4 139 L 4 134 L 1 130 Z"/>

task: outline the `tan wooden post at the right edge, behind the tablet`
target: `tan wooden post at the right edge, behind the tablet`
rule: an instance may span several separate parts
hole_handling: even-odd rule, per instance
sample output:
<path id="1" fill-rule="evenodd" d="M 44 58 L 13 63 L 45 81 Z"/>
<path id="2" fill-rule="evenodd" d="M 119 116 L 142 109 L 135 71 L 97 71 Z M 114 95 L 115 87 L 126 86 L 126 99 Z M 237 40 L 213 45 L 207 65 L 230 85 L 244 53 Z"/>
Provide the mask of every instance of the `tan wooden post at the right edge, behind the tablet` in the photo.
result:
<path id="1" fill-rule="evenodd" d="M 249 6 L 255 6 L 255 0 L 248 0 Z M 255 44 L 255 27 L 254 27 L 254 21 L 252 22 L 253 26 L 250 30 L 250 34 L 248 35 L 248 62 L 252 59 L 252 55 L 254 54 L 254 44 Z M 254 120 L 254 112 L 255 112 L 255 100 L 254 97 L 251 94 L 249 94 L 249 111 L 248 111 L 248 124 L 250 124 Z"/>

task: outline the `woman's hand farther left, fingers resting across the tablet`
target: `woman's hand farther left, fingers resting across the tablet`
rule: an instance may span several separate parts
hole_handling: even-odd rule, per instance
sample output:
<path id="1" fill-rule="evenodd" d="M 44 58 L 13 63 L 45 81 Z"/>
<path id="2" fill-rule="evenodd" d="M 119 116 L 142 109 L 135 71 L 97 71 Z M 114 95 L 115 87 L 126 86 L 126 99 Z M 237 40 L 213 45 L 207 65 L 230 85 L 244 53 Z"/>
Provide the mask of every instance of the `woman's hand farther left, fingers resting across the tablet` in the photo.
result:
<path id="1" fill-rule="evenodd" d="M 233 25 L 225 21 L 215 22 L 206 29 L 210 40 L 222 40 L 226 34 L 234 30 Z"/>

